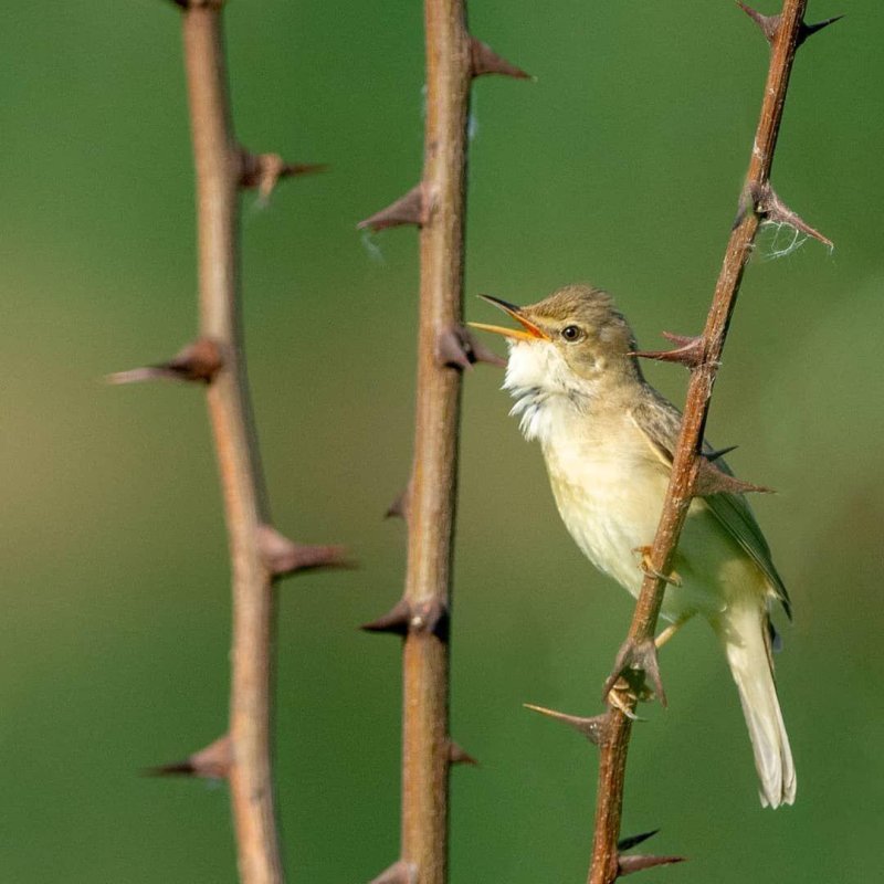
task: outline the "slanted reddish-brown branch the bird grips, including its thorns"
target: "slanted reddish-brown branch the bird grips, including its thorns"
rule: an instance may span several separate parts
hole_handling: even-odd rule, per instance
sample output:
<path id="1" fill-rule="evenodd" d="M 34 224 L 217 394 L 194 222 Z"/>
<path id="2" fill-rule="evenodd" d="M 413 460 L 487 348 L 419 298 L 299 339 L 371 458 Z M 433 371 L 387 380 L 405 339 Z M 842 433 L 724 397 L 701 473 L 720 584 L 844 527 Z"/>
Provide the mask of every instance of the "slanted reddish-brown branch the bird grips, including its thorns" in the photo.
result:
<path id="1" fill-rule="evenodd" d="M 743 4 L 740 4 L 743 6 Z M 675 352 L 665 355 L 672 361 L 682 361 L 691 369 L 691 381 L 682 420 L 678 444 L 674 455 L 672 476 L 661 515 L 660 525 L 651 552 L 651 568 L 642 585 L 635 606 L 627 641 L 618 654 L 617 663 L 606 684 L 606 697 L 622 676 L 628 676 L 632 687 L 636 687 L 641 676 L 633 677 L 640 670 L 662 695 L 662 684 L 656 663 L 654 632 L 660 614 L 666 582 L 664 575 L 672 571 L 678 537 L 687 515 L 692 498 L 697 494 L 701 473 L 706 469 L 701 456 L 701 444 L 709 409 L 713 383 L 718 370 L 727 336 L 730 316 L 736 306 L 737 293 L 746 263 L 751 254 L 758 228 L 766 221 L 787 223 L 809 235 L 815 235 L 831 245 L 797 214 L 786 209 L 770 187 L 770 170 L 777 146 L 780 122 L 782 119 L 789 75 L 796 52 L 806 36 L 818 28 L 803 23 L 807 0 L 785 0 L 782 12 L 777 17 L 759 17 L 754 10 L 744 9 L 761 27 L 771 44 L 770 66 L 761 103 L 760 119 L 753 144 L 746 185 L 739 202 L 736 223 L 725 251 L 724 262 L 713 295 L 706 326 L 702 337 L 695 340 L 681 340 Z M 646 354 L 661 358 L 661 354 Z M 716 471 L 717 472 L 717 471 Z M 638 685 L 640 687 L 640 684 Z M 596 831 L 592 845 L 592 860 L 589 884 L 611 884 L 632 865 L 621 857 L 618 840 L 623 806 L 623 785 L 627 769 L 627 753 L 632 730 L 630 716 L 636 703 L 638 691 L 618 692 L 623 708 L 608 701 L 602 737 L 599 740 L 599 786 L 596 804 Z M 633 859 L 634 857 L 630 857 Z M 642 857 L 649 867 L 673 857 Z M 629 869 L 629 871 L 635 871 Z"/>

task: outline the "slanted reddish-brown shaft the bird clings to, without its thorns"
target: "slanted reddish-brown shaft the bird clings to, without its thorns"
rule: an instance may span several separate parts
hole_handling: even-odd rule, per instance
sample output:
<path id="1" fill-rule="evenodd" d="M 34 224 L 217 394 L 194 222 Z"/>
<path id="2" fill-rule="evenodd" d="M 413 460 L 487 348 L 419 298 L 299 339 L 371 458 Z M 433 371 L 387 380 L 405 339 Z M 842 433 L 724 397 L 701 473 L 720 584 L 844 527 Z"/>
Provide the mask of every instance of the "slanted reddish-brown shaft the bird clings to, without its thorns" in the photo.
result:
<path id="1" fill-rule="evenodd" d="M 770 67 L 746 186 L 740 201 L 740 215 L 730 232 L 703 332 L 704 358 L 701 365 L 691 372 L 672 476 L 651 552 L 652 569 L 660 575 L 666 575 L 672 570 L 675 548 L 691 505 L 709 398 L 728 324 L 736 305 L 743 272 L 761 222 L 755 194 L 761 192 L 770 177 L 786 91 L 799 45 L 806 7 L 807 0 L 785 0 L 779 27 L 771 41 Z M 653 576 L 645 577 L 630 625 L 628 641 L 639 644 L 653 640 L 664 590 L 664 580 Z M 607 739 L 601 746 L 596 832 L 589 884 L 611 884 L 619 873 L 617 842 L 620 836 L 625 761 L 631 727 L 629 719 L 621 711 L 611 707 L 608 715 L 610 728 Z"/>

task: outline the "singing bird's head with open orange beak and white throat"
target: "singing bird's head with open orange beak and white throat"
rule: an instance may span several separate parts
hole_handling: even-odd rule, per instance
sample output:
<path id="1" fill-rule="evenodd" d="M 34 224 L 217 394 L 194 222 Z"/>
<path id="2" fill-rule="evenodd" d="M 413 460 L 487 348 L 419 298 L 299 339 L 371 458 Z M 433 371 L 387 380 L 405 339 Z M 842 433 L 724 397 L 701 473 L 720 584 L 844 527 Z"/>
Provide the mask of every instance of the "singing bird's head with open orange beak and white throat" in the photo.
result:
<path id="1" fill-rule="evenodd" d="M 481 295 L 520 326 L 470 323 L 509 343 L 506 387 L 549 393 L 592 393 L 600 386 L 641 379 L 632 329 L 611 296 L 589 285 L 568 285 L 537 304 L 517 307 Z"/>

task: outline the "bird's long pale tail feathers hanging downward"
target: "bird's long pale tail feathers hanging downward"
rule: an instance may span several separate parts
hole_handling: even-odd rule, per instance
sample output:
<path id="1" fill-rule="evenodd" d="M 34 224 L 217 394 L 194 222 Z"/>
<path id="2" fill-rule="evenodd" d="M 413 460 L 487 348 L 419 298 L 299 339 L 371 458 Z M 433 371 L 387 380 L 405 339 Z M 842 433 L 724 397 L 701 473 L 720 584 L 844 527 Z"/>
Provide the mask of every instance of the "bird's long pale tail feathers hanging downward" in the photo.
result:
<path id="1" fill-rule="evenodd" d="M 754 604 L 734 606 L 717 624 L 717 631 L 749 728 L 755 767 L 761 781 L 761 804 L 771 808 L 791 804 L 797 779 L 774 684 L 767 614 Z"/>

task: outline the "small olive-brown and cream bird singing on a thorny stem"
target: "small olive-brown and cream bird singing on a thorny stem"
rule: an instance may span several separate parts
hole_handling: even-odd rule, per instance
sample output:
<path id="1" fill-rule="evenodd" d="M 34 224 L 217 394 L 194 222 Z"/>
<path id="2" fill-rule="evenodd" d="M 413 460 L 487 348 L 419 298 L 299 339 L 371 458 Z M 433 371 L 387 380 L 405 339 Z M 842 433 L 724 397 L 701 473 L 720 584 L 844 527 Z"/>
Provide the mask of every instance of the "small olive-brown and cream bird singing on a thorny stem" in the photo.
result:
<path id="1" fill-rule="evenodd" d="M 632 596 L 650 568 L 681 412 L 642 375 L 635 336 L 607 292 L 577 284 L 519 307 L 488 295 L 517 328 L 503 335 L 503 389 L 523 435 L 539 443 L 556 505 L 577 546 Z M 704 452 L 716 453 L 706 442 Z M 720 456 L 715 466 L 732 471 Z M 734 487 L 739 487 L 735 482 Z M 741 493 L 691 502 L 666 576 L 660 646 L 696 614 L 712 625 L 736 682 L 764 807 L 794 801 L 797 777 L 774 678 L 770 610 L 789 596 Z"/>

